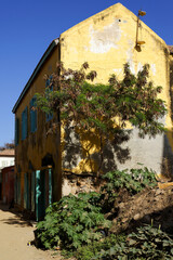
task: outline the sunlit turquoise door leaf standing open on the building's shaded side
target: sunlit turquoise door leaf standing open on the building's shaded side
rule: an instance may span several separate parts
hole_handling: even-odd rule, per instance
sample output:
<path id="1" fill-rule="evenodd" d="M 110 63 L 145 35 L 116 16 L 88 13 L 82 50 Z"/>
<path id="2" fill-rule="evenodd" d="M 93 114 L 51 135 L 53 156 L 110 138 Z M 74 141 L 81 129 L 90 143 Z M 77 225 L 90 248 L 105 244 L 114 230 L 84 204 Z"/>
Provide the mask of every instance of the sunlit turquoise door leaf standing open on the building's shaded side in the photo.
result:
<path id="1" fill-rule="evenodd" d="M 45 216 L 45 174 L 36 171 L 36 220 L 40 221 Z"/>

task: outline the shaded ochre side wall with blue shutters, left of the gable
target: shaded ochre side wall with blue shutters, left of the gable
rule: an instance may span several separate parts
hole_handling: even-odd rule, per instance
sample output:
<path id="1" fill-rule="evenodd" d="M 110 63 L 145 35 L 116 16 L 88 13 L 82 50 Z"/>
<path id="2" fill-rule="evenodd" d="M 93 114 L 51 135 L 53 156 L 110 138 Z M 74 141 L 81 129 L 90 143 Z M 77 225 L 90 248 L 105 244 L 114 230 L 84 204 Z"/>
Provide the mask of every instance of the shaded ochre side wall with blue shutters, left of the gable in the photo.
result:
<path id="1" fill-rule="evenodd" d="M 48 134 L 48 130 L 51 127 L 53 120 L 45 120 L 45 114 L 38 110 L 37 117 L 37 131 L 35 133 L 30 132 L 30 114 L 29 114 L 29 103 L 36 93 L 43 93 L 45 89 L 44 75 L 51 75 L 55 72 L 56 63 L 58 62 L 58 46 L 53 50 L 52 54 L 44 62 L 41 70 L 35 78 L 32 84 L 24 95 L 22 102 L 19 103 L 15 117 L 19 119 L 19 143 L 15 151 L 15 161 L 16 171 L 18 166 L 22 172 L 22 207 L 24 206 L 24 173 L 31 172 L 32 170 L 40 170 L 42 168 L 42 158 L 50 153 L 53 156 L 55 164 L 54 172 L 54 190 L 56 191 L 57 197 L 61 197 L 61 156 L 59 156 L 59 135 Z M 26 140 L 22 140 L 22 113 L 25 107 L 28 107 L 28 136 Z M 31 162 L 32 169 L 29 169 L 29 164 Z M 57 199 L 55 197 L 55 199 Z"/>

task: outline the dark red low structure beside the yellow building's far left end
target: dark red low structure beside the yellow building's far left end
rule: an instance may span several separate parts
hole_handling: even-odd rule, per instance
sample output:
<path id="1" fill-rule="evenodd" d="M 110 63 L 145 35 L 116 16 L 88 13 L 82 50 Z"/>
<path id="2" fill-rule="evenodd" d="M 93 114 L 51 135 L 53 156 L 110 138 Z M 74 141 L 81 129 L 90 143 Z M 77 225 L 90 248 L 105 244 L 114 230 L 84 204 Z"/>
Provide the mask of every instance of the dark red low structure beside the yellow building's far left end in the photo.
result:
<path id="1" fill-rule="evenodd" d="M 2 202 L 12 205 L 14 203 L 14 166 L 2 169 Z"/>

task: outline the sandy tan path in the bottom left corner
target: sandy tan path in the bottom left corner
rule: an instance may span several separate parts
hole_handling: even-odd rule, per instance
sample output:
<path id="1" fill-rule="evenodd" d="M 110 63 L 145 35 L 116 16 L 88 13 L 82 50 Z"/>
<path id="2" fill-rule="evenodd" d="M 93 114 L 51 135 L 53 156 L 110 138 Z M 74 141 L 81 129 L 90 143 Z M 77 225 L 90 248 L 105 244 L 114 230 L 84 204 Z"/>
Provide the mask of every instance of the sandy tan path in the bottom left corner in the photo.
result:
<path id="1" fill-rule="evenodd" d="M 0 203 L 0 260 L 56 260 L 51 251 L 27 244 L 34 240 L 35 225 L 21 220 Z"/>

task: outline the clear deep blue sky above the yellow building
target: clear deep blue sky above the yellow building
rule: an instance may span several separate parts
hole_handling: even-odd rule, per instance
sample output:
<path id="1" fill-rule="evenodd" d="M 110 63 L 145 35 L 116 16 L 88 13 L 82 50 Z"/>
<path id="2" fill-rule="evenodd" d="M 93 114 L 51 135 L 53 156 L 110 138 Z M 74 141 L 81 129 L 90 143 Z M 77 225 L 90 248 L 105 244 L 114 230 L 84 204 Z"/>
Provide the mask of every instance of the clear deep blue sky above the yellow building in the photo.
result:
<path id="1" fill-rule="evenodd" d="M 0 14 L 0 146 L 14 140 L 12 108 L 50 42 L 81 21 L 117 3 L 112 0 L 6 0 Z M 171 0 L 121 0 L 143 17 L 168 44 L 173 44 Z M 156 53 L 157 55 L 157 53 Z"/>

